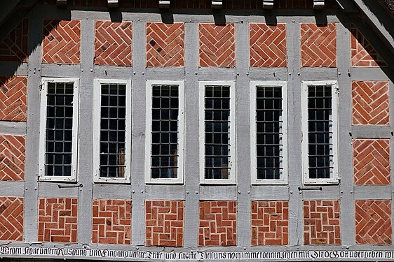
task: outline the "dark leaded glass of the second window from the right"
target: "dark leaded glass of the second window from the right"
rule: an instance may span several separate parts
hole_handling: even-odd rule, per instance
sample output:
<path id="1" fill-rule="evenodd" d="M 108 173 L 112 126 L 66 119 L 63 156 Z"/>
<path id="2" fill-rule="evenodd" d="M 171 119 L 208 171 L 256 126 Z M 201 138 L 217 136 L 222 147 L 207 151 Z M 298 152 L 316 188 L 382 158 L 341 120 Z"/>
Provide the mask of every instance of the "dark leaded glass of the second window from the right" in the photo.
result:
<path id="1" fill-rule="evenodd" d="M 283 170 L 281 87 L 256 90 L 257 179 L 280 179 Z"/>

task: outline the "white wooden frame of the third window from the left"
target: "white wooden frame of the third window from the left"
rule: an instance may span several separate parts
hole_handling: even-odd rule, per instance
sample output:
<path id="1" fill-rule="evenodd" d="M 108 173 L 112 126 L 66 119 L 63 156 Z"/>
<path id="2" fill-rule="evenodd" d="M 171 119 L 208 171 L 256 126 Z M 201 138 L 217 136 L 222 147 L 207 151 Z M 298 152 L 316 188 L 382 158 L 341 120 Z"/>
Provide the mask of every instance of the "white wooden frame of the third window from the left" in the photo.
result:
<path id="1" fill-rule="evenodd" d="M 152 152 L 152 86 L 178 86 L 178 152 L 177 178 L 151 178 Z M 145 124 L 145 183 L 147 184 L 183 184 L 184 183 L 184 81 L 183 80 L 147 80 L 147 122 Z"/>

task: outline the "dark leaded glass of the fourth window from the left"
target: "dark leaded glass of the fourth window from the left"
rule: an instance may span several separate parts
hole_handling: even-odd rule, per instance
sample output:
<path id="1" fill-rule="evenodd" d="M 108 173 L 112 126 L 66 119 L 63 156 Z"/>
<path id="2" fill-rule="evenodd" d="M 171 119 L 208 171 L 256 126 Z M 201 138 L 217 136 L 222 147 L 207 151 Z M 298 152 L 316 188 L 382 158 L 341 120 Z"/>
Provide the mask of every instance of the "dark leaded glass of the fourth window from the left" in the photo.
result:
<path id="1" fill-rule="evenodd" d="M 229 179 L 230 87 L 205 86 L 205 179 Z"/>

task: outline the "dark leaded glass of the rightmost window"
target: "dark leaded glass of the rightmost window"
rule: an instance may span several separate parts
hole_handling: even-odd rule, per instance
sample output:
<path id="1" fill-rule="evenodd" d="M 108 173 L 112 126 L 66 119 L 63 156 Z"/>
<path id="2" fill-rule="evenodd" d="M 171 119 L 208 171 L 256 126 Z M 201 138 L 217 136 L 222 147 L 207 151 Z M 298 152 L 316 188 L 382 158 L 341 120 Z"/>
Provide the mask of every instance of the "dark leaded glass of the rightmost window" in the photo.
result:
<path id="1" fill-rule="evenodd" d="M 332 87 L 308 87 L 309 178 L 330 178 L 332 173 Z"/>

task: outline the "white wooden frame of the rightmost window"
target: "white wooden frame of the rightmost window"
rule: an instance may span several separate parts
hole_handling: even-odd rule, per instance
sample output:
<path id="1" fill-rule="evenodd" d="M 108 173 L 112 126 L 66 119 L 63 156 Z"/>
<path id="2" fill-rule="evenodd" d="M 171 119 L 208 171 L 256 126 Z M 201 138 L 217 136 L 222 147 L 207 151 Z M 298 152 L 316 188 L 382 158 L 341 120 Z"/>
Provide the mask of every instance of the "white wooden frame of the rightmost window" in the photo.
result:
<path id="1" fill-rule="evenodd" d="M 309 178 L 308 162 L 308 87 L 330 85 L 332 87 L 332 177 Z M 338 184 L 338 93 L 339 87 L 335 80 L 330 81 L 302 81 L 301 82 L 301 152 L 304 184 Z"/>

